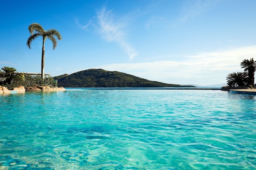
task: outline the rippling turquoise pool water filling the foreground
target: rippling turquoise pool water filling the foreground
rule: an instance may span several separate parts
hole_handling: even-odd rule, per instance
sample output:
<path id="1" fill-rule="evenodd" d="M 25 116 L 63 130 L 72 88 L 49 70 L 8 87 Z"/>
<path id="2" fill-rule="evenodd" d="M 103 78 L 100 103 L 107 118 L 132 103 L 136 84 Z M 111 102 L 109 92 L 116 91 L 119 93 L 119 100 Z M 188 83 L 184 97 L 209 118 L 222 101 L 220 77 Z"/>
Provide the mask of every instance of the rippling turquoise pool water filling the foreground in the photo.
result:
<path id="1" fill-rule="evenodd" d="M 256 96 L 67 89 L 0 95 L 0 170 L 253 170 Z"/>

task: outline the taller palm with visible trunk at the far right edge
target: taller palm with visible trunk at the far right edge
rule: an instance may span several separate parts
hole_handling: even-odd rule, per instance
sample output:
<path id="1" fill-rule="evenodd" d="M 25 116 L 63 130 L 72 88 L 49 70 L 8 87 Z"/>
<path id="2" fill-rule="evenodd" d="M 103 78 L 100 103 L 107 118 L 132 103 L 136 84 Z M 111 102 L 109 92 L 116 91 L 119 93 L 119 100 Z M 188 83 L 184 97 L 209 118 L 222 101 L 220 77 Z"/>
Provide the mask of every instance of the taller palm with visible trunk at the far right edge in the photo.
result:
<path id="1" fill-rule="evenodd" d="M 250 60 L 246 59 L 241 62 L 241 68 L 244 68 L 245 72 L 248 72 L 248 85 L 254 86 L 254 72 L 256 71 L 256 61 L 251 58 Z"/>

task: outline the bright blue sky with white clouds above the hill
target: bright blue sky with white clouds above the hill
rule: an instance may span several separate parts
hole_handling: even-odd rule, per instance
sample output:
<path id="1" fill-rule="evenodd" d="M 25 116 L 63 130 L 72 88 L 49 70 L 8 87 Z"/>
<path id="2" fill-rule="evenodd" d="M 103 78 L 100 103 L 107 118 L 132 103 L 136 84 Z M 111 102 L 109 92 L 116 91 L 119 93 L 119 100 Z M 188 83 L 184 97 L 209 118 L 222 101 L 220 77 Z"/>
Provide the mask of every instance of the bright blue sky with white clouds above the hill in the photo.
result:
<path id="1" fill-rule="evenodd" d="M 26 45 L 28 26 L 62 35 L 45 44 L 45 72 L 125 72 L 171 84 L 211 85 L 256 58 L 255 0 L 0 0 L 0 68 L 41 72 L 42 38 Z"/>

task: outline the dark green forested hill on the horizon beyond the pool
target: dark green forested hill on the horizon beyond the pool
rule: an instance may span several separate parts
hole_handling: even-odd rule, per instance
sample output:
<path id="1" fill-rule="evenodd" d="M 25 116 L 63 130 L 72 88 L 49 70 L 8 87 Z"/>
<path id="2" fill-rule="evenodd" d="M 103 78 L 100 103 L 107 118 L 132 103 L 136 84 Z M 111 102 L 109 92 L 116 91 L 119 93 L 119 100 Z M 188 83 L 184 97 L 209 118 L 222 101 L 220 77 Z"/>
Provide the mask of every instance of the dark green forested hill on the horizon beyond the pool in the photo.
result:
<path id="1" fill-rule="evenodd" d="M 165 84 L 149 81 L 122 72 L 110 72 L 103 69 L 88 69 L 54 77 L 58 86 L 63 87 L 188 87 L 178 84 Z"/>

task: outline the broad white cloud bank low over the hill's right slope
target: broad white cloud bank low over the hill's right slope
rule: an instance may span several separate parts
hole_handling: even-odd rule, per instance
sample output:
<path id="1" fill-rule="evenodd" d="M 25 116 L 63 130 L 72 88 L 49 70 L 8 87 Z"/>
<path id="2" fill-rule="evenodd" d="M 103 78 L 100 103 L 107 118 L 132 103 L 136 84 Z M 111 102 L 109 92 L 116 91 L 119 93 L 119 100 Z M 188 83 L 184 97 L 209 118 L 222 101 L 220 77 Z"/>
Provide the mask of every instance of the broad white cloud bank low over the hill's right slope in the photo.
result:
<path id="1" fill-rule="evenodd" d="M 256 54 L 256 46 L 245 46 L 217 52 L 185 56 L 182 61 L 153 61 L 145 63 L 116 63 L 96 68 L 120 71 L 154 81 L 174 84 L 221 84 L 226 75 L 243 71 L 241 61 Z"/>

